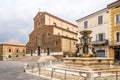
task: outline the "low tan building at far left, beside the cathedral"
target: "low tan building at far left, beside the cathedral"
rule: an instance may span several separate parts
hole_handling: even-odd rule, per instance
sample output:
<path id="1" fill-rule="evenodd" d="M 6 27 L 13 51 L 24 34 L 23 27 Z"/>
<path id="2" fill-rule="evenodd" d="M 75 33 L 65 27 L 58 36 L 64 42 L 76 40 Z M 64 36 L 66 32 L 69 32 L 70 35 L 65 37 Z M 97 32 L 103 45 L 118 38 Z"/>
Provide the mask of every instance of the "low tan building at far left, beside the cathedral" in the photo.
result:
<path id="1" fill-rule="evenodd" d="M 0 44 L 0 60 L 7 60 L 12 57 L 24 56 L 26 53 L 25 44 L 3 43 Z"/>

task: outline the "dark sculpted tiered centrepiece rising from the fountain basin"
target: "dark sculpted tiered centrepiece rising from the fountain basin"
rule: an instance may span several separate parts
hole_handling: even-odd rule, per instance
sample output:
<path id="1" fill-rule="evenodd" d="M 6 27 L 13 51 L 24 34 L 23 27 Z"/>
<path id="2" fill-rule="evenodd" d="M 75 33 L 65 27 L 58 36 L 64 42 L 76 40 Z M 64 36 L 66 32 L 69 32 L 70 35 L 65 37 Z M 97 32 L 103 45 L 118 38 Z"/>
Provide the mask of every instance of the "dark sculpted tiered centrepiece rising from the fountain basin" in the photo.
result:
<path id="1" fill-rule="evenodd" d="M 75 53 L 76 57 L 96 57 L 95 50 L 91 44 L 91 33 L 92 31 L 90 30 L 84 30 L 80 32 L 81 38 L 79 38 L 80 44 L 76 46 L 78 48 L 77 52 Z"/>

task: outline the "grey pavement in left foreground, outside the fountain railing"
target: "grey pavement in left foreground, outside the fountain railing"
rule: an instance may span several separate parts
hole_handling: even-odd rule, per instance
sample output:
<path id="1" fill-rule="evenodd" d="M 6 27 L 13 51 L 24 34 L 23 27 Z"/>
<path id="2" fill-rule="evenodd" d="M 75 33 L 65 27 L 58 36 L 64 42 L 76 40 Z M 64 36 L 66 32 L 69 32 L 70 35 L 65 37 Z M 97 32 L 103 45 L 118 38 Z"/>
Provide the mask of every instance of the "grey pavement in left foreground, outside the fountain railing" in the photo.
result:
<path id="1" fill-rule="evenodd" d="M 23 72 L 24 62 L 0 61 L 0 80 L 49 80 Z"/>

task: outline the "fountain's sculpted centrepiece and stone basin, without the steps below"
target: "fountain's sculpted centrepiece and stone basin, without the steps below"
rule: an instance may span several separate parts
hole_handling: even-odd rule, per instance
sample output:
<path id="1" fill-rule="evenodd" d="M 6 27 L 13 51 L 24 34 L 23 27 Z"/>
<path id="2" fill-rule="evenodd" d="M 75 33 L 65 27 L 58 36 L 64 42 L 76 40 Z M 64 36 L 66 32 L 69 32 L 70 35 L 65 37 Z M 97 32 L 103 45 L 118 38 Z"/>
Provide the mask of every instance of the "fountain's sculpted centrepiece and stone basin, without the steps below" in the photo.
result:
<path id="1" fill-rule="evenodd" d="M 73 64 L 75 66 L 107 66 L 110 67 L 114 64 L 113 58 L 98 58 L 94 47 L 91 44 L 90 34 L 92 31 L 84 30 L 81 31 L 80 44 L 78 45 L 78 51 L 75 57 L 63 58 L 65 64 Z"/>

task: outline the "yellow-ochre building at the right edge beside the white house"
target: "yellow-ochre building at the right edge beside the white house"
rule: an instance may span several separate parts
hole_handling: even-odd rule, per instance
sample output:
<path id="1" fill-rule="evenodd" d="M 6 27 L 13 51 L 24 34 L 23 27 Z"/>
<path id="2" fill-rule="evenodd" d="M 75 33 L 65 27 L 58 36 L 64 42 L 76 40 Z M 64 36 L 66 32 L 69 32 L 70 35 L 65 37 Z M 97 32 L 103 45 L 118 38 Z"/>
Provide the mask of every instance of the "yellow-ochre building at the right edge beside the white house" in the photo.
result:
<path id="1" fill-rule="evenodd" d="M 120 0 L 107 7 L 111 23 L 110 56 L 115 58 L 115 61 L 120 61 Z"/>

